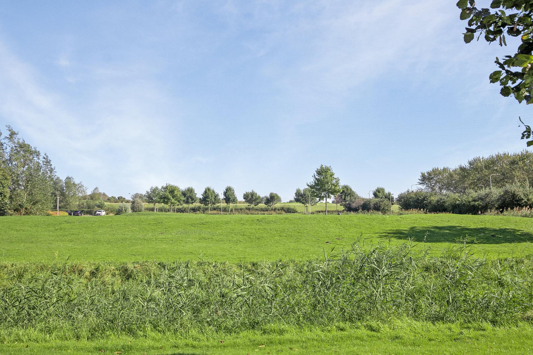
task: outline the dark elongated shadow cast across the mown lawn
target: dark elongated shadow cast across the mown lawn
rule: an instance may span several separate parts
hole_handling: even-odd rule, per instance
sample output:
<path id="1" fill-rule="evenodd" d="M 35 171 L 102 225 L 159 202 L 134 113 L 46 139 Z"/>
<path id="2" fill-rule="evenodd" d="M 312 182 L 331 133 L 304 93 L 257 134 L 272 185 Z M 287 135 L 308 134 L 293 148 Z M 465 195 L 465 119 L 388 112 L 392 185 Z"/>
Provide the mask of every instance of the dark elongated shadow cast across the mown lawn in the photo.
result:
<path id="1" fill-rule="evenodd" d="M 383 233 L 383 236 L 401 240 L 411 240 L 426 243 L 524 243 L 533 242 L 533 234 L 514 228 L 468 228 L 461 226 L 434 226 L 408 229 L 392 229 Z"/>

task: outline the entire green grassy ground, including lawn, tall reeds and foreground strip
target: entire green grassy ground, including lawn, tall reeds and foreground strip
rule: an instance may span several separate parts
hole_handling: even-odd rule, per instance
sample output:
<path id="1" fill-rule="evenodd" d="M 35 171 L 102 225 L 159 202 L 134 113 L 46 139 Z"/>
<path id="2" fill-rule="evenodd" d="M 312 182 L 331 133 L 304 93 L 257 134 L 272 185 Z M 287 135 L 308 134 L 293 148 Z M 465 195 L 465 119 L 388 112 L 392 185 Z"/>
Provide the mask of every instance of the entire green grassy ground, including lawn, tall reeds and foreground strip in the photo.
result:
<path id="1" fill-rule="evenodd" d="M 2 217 L 0 353 L 531 353 L 532 240 L 457 214 Z M 326 262 L 353 242 L 389 246 Z"/>

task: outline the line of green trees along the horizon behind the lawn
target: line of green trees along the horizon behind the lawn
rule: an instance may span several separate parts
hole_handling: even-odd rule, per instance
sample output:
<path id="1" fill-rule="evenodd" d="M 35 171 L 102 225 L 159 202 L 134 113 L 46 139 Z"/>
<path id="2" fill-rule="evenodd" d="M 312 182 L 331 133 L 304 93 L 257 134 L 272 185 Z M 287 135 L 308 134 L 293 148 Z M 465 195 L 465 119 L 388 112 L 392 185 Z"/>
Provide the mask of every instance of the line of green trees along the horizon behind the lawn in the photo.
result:
<path id="1" fill-rule="evenodd" d="M 136 193 L 130 200 L 123 196 L 108 196 L 95 187 L 90 194 L 82 181 L 76 181 L 71 176 L 64 180 L 55 174 L 55 168 L 46 154 L 41 154 L 35 147 L 30 146 L 10 126 L 7 135 L 2 137 L 0 132 L 0 215 L 26 215 L 46 214 L 46 211 L 55 210 L 59 196 L 60 209 L 103 209 L 105 202 L 131 202 L 132 210 L 142 210 L 144 204 L 164 203 L 176 210 L 176 206 L 190 205 L 199 202 L 211 211 L 211 207 L 219 202 L 235 205 L 238 203 L 235 189 L 227 186 L 222 196 L 212 187 L 207 186 L 198 197 L 193 187 L 180 189 L 173 184 L 152 186 L 146 193 Z M 497 153 L 487 158 L 476 157 L 466 164 L 450 169 L 433 168 L 421 173 L 419 184 L 424 191 L 445 194 L 465 194 L 477 185 L 490 184 L 489 175 L 500 174 L 492 177 L 492 184 L 503 187 L 508 184 L 518 184 L 527 187 L 528 194 L 533 181 L 533 153 L 521 151 L 518 153 Z M 516 189 L 515 189 L 516 190 Z M 515 191 L 513 190 L 513 191 Z M 505 190 L 510 191 L 510 190 Z M 409 190 L 407 191 L 409 192 Z M 405 196 L 405 195 L 403 195 Z M 374 190 L 372 198 L 357 194 L 349 185 L 341 185 L 340 179 L 335 177 L 331 167 L 321 165 L 312 176 L 312 181 L 306 187 L 297 188 L 294 202 L 309 207 L 319 201 L 326 202 L 333 198 L 333 203 L 342 205 L 346 211 L 381 211 L 390 210 L 394 201 L 390 192 L 378 187 Z M 274 210 L 274 205 L 281 202 L 281 197 L 274 192 L 261 196 L 253 189 L 243 194 L 244 202 L 252 209 L 260 203 L 268 205 Z M 122 207 L 124 212 L 124 206 Z"/>

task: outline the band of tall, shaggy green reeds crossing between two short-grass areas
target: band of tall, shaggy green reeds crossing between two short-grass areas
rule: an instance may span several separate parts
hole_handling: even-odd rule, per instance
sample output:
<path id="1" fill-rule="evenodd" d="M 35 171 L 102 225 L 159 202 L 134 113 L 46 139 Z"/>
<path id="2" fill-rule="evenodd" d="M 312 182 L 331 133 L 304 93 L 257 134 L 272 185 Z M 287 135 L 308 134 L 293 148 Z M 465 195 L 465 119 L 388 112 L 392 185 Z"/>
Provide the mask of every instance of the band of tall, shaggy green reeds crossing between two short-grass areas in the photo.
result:
<path id="1" fill-rule="evenodd" d="M 531 321 L 532 257 L 359 244 L 303 262 L 3 263 L 0 341 L 274 332 L 408 317 Z"/>

